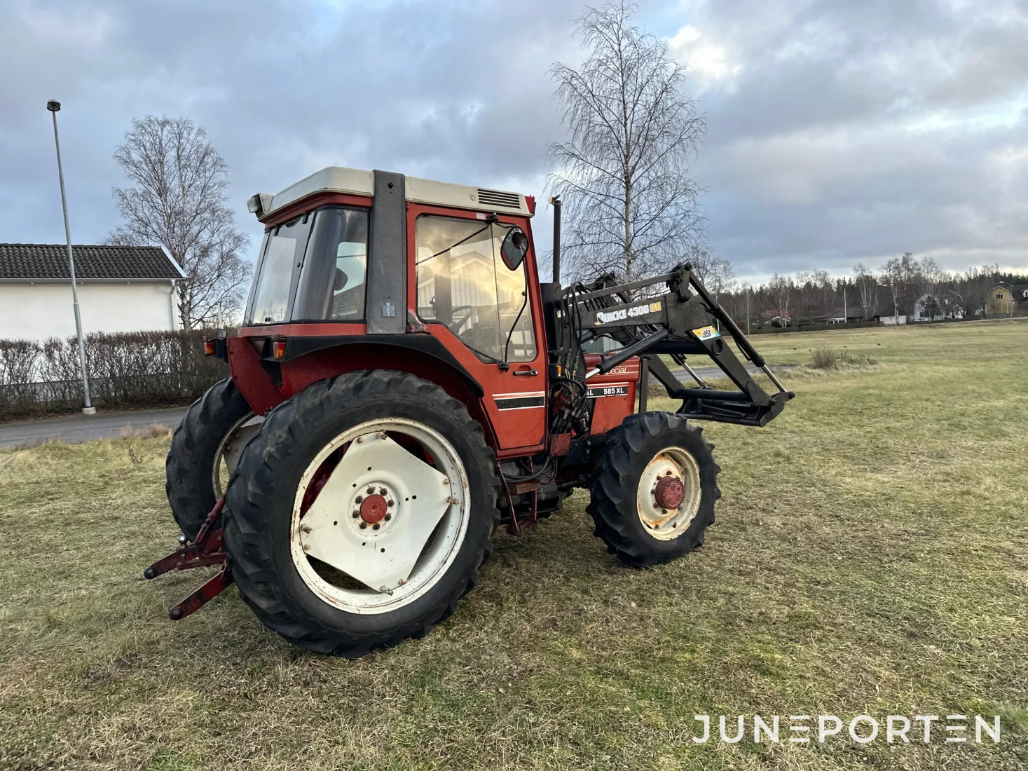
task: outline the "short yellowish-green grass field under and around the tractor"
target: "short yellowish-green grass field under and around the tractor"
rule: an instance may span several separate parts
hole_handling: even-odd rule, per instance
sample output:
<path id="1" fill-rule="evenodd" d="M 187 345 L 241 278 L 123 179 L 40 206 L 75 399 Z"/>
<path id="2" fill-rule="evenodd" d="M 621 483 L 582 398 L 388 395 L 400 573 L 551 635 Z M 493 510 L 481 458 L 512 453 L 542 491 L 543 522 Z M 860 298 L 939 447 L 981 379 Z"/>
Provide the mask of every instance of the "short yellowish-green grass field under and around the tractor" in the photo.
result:
<path id="1" fill-rule="evenodd" d="M 201 578 L 141 576 L 178 535 L 167 437 L 0 452 L 0 768 L 1028 767 L 1028 324 L 757 343 L 877 364 L 791 370 L 767 429 L 709 426 L 703 549 L 624 568 L 579 494 L 499 537 L 430 636 L 358 661 L 234 588 L 167 620 Z M 704 713 L 976 712 L 999 744 L 691 740 Z"/>

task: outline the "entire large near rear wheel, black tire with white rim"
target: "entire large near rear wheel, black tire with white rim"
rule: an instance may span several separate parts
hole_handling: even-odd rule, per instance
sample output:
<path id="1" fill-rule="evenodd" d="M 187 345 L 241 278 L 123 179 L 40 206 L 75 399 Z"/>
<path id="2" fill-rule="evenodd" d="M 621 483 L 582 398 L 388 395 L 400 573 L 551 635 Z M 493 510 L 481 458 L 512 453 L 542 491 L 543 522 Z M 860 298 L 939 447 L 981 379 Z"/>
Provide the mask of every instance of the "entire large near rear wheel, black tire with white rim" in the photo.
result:
<path id="1" fill-rule="evenodd" d="M 428 440 L 438 447 L 433 457 L 416 455 L 419 450 L 404 445 L 409 458 L 382 467 L 367 460 L 359 464 L 368 467 L 367 474 L 363 468 L 352 469 L 354 452 L 371 452 L 379 443 L 396 451 L 400 445 L 392 440 L 405 441 L 402 428 L 397 428 L 403 426 L 410 427 L 409 436 L 436 437 Z M 408 461 L 410 466 L 405 465 Z M 410 499 L 417 495 L 401 489 L 405 479 L 426 473 L 421 467 L 443 482 L 445 492 L 432 494 L 448 494 L 450 477 L 468 494 L 460 494 L 466 498 L 463 503 L 449 503 L 449 498 L 440 503 L 445 513 L 432 525 L 435 529 L 409 574 L 373 588 L 345 568 L 383 564 L 379 545 L 390 545 L 396 553 L 391 544 L 407 533 L 399 528 L 415 526 L 429 506 L 424 503 L 428 493 L 415 505 Z M 363 495 L 353 497 L 365 486 L 367 500 L 362 504 Z M 228 484 L 228 563 L 241 595 L 265 626 L 308 651 L 357 658 L 424 636 L 454 612 L 457 600 L 477 583 L 476 571 L 491 551 L 499 492 L 492 449 L 463 403 L 411 374 L 348 372 L 313 383 L 279 405 L 244 450 Z M 358 509 L 363 512 L 372 499 L 388 499 L 392 521 L 368 519 L 366 529 L 354 529 L 365 519 L 356 516 Z M 449 546 L 439 548 L 439 539 Z M 299 551 L 311 544 L 313 552 Z M 325 561 L 315 559 L 319 552 L 335 562 L 328 562 L 327 574 Z"/>

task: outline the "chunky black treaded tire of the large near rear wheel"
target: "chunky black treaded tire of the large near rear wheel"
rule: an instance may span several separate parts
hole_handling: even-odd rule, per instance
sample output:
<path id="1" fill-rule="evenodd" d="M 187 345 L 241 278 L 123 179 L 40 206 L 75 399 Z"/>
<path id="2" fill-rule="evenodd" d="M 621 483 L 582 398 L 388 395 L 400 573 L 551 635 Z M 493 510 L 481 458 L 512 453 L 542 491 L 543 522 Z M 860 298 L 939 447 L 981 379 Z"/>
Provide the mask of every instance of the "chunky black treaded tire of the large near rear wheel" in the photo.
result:
<path id="1" fill-rule="evenodd" d="M 426 414 L 444 415 L 474 446 L 473 456 L 465 457 L 462 453 L 469 476 L 483 479 L 485 485 L 482 503 L 471 512 L 472 522 L 466 536 L 467 548 L 474 551 L 465 560 L 463 573 L 441 580 L 449 582 L 449 587 L 440 590 L 442 596 L 431 607 L 424 607 L 423 600 L 430 598 L 435 590 L 397 611 L 377 616 L 357 617 L 326 603 L 325 608 L 335 614 L 330 623 L 309 613 L 300 598 L 287 589 L 273 562 L 276 544 L 270 512 L 276 506 L 277 491 L 281 492 L 283 474 L 301 462 L 291 450 L 302 446 L 305 436 L 319 426 L 331 424 L 341 409 L 360 404 L 367 411 L 382 401 L 416 404 Z M 449 439 L 453 441 L 452 437 Z M 470 467 L 475 463 L 479 468 L 472 474 Z M 397 646 L 407 637 L 424 636 L 456 610 L 457 600 L 475 586 L 476 571 L 492 550 L 491 536 L 500 521 L 495 505 L 500 479 L 494 469 L 495 456 L 485 441 L 481 425 L 462 402 L 433 382 L 394 370 L 359 370 L 313 383 L 268 413 L 260 434 L 243 452 L 229 481 L 225 543 L 240 594 L 265 626 L 308 651 L 358 658 L 375 649 Z M 278 505 L 282 506 L 282 502 Z M 485 526 L 477 530 L 476 517 L 487 519 Z M 474 536 L 474 531 L 479 535 Z M 477 544 L 473 543 L 476 538 Z M 289 570 L 295 570 L 291 563 Z M 309 591 L 305 586 L 304 590 Z M 417 610 L 406 612 L 409 609 Z M 391 617 L 400 620 L 389 621 Z M 358 618 L 372 622 L 353 623 Z M 375 619 L 380 623 L 374 622 Z"/>

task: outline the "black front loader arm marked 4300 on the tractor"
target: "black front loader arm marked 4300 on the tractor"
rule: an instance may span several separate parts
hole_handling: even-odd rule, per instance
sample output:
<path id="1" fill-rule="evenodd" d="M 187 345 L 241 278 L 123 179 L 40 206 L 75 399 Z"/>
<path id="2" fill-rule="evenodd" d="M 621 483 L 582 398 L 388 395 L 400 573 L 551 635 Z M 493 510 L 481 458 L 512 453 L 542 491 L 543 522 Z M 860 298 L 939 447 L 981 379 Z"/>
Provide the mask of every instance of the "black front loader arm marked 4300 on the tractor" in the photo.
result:
<path id="1" fill-rule="evenodd" d="M 664 284 L 663 294 L 631 299 L 631 293 Z M 576 284 L 562 290 L 553 322 L 562 371 L 581 374 L 586 382 L 597 374 L 634 357 L 642 357 L 645 371 L 653 374 L 672 399 L 682 399 L 677 412 L 695 419 L 765 426 L 781 412 L 795 394 L 785 391 L 738 325 L 707 291 L 689 263 L 651 279 L 617 284 L 601 277 L 590 285 Z M 735 341 L 745 359 L 760 367 L 778 389 L 768 394 L 736 357 L 720 326 Z M 623 347 L 607 356 L 593 369 L 582 373 L 581 346 L 608 335 Z M 682 366 L 696 388 L 687 388 L 658 355 L 667 354 Z M 737 391 L 709 388 L 687 362 L 689 356 L 706 356 L 735 384 Z M 644 383 L 645 388 L 645 383 Z"/>

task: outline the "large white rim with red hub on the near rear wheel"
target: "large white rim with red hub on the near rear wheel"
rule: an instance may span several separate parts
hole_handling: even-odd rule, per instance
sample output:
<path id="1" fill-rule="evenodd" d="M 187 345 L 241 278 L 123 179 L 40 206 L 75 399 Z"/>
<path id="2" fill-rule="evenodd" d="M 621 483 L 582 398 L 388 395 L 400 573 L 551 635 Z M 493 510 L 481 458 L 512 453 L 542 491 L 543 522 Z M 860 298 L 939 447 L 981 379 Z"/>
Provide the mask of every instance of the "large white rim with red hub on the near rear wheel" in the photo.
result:
<path id="1" fill-rule="evenodd" d="M 395 439 L 414 440 L 434 465 Z M 326 478 L 319 470 L 340 448 Z M 311 484 L 322 486 L 304 511 Z M 377 508 L 369 508 L 372 500 Z M 407 418 L 368 420 L 335 437 L 303 472 L 293 502 L 293 563 L 307 587 L 335 608 L 395 611 L 445 575 L 464 543 L 471 503 L 464 464 L 439 432 Z M 342 580 L 327 578 L 326 566 L 344 574 Z"/>

